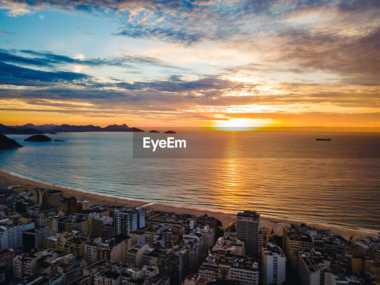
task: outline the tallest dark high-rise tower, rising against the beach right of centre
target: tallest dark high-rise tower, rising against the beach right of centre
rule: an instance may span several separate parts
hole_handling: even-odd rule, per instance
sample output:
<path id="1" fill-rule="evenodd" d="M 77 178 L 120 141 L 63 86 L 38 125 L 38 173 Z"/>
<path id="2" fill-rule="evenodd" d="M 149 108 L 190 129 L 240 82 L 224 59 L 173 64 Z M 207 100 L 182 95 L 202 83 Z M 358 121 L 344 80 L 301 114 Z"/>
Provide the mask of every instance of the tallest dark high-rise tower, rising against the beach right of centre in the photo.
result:
<path id="1" fill-rule="evenodd" d="M 258 235 L 260 231 L 260 215 L 256 211 L 239 212 L 236 215 L 236 233 L 244 239 L 245 254 L 257 256 Z"/>

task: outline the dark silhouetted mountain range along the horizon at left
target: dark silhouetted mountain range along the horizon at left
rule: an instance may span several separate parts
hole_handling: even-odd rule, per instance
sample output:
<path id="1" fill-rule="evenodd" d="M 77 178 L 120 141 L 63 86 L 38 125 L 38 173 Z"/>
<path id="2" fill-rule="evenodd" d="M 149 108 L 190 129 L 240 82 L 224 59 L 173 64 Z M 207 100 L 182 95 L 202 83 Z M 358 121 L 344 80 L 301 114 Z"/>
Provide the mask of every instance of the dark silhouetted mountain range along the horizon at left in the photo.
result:
<path id="1" fill-rule="evenodd" d="M 144 132 L 136 127 L 128 127 L 126 124 L 122 125 L 109 125 L 106 127 L 99 126 L 75 126 L 75 125 L 55 125 L 55 124 L 44 124 L 44 125 L 33 125 L 25 124 L 23 126 L 5 126 L 0 124 L 0 134 L 44 134 L 51 132 Z"/>

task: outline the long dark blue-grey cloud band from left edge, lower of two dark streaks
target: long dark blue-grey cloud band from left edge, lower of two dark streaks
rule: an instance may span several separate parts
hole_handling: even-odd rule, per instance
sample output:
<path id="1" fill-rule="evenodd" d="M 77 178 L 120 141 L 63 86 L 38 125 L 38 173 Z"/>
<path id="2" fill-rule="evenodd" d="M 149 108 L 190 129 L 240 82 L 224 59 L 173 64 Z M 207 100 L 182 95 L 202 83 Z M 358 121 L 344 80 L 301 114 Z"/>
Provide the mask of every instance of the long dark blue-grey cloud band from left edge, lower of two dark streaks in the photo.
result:
<path id="1" fill-rule="evenodd" d="M 117 89 L 124 91 L 135 91 L 135 97 L 138 98 L 142 94 L 149 94 L 149 97 L 158 96 L 163 93 L 169 94 L 169 97 L 185 96 L 188 100 L 200 99 L 202 97 L 209 97 L 215 100 L 220 99 L 224 96 L 225 92 L 233 92 L 236 90 L 244 90 L 246 92 L 257 93 L 256 90 L 258 84 L 247 84 L 247 83 L 236 83 L 230 80 L 221 79 L 214 76 L 206 76 L 198 80 L 184 81 L 181 80 L 181 76 L 169 76 L 167 80 L 154 80 L 154 81 L 136 81 L 133 83 L 128 83 L 120 80 L 108 83 L 99 83 L 92 76 L 67 71 L 57 71 L 57 72 L 46 72 L 42 70 L 35 70 L 32 68 L 20 67 L 17 65 L 7 64 L 0 62 L 0 67 L 2 68 L 2 73 L 0 75 L 0 84 L 9 84 L 16 86 L 44 86 L 44 90 L 40 90 L 40 95 L 43 96 L 47 93 L 48 97 L 51 93 L 46 87 L 56 87 L 57 84 L 66 84 L 71 86 L 70 89 L 66 89 L 70 95 L 65 94 L 64 97 L 76 98 L 76 93 L 80 94 L 79 98 L 84 98 L 84 92 L 82 89 L 76 89 L 80 87 L 86 87 L 89 89 L 87 93 L 88 99 L 92 98 L 112 98 L 112 94 L 119 98 L 125 97 L 127 93 L 120 93 Z M 113 81 L 113 80 L 112 80 Z M 113 88 L 114 90 L 104 90 L 103 88 Z M 101 89 L 100 91 L 97 89 Z M 136 91 L 141 91 L 137 92 Z M 197 95 L 195 95 L 195 93 Z M 25 92 L 28 94 L 28 92 Z M 62 96 L 62 93 L 58 92 L 58 96 Z M 104 96 L 104 94 L 109 94 Z M 21 96 L 21 93 L 18 94 Z M 34 96 L 35 94 L 33 94 Z M 86 97 L 86 96 L 85 96 Z M 116 99 L 115 98 L 115 99 Z M 158 102 L 158 101 L 157 101 Z"/>

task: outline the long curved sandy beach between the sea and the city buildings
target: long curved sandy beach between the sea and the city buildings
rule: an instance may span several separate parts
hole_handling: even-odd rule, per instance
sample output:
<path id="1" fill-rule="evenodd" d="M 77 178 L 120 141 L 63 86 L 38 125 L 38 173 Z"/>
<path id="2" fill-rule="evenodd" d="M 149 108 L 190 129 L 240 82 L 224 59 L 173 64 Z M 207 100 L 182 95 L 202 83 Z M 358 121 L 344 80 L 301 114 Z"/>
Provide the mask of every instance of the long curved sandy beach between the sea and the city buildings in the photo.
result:
<path id="1" fill-rule="evenodd" d="M 15 191 L 29 191 L 35 187 L 41 188 L 49 188 L 49 189 L 57 189 L 63 191 L 64 196 L 75 196 L 78 200 L 87 200 L 90 201 L 90 205 L 100 205 L 100 204 L 111 204 L 111 205 L 120 205 L 127 207 L 142 207 L 145 209 L 152 209 L 158 211 L 172 211 L 175 213 L 193 213 L 193 214 L 204 214 L 214 216 L 218 218 L 223 224 L 222 229 L 225 229 L 231 222 L 236 220 L 234 213 L 222 212 L 222 211 L 213 211 L 213 210 L 205 210 L 205 209 L 195 209 L 174 205 L 166 205 L 166 204 L 158 204 L 154 202 L 147 201 L 139 201 L 134 199 L 127 199 L 121 197 L 111 197 L 105 196 L 101 194 L 94 194 L 69 188 L 64 188 L 61 186 L 50 185 L 43 182 L 38 182 L 35 180 L 30 180 L 27 178 L 22 178 L 17 175 L 9 174 L 5 170 L 0 169 L 0 183 L 4 183 L 6 186 L 16 186 L 21 185 L 22 187 L 14 188 Z M 321 223 L 313 223 L 313 222 L 305 222 L 299 220 L 293 220 L 288 218 L 279 218 L 279 217 L 270 217 L 261 215 L 260 224 L 266 228 L 271 230 L 274 228 L 275 233 L 280 234 L 280 230 L 284 224 L 289 223 L 305 223 L 310 226 L 315 226 L 317 228 L 322 229 L 331 229 L 334 232 L 337 232 L 345 239 L 349 239 L 350 236 L 353 237 L 366 237 L 366 236 L 374 236 L 376 234 L 375 231 L 365 230 L 365 229 L 351 229 L 344 228 L 340 226 L 334 226 L 331 224 L 321 224 Z"/>

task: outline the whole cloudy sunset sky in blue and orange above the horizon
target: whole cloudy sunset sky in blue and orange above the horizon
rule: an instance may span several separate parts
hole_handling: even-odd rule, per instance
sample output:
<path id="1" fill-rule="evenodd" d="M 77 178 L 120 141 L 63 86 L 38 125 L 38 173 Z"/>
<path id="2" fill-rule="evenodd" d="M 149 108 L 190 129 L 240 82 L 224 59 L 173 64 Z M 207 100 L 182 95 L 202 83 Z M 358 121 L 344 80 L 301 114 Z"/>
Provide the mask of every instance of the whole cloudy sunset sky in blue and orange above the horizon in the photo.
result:
<path id="1" fill-rule="evenodd" d="M 380 0 L 0 0 L 0 123 L 380 127 Z"/>

